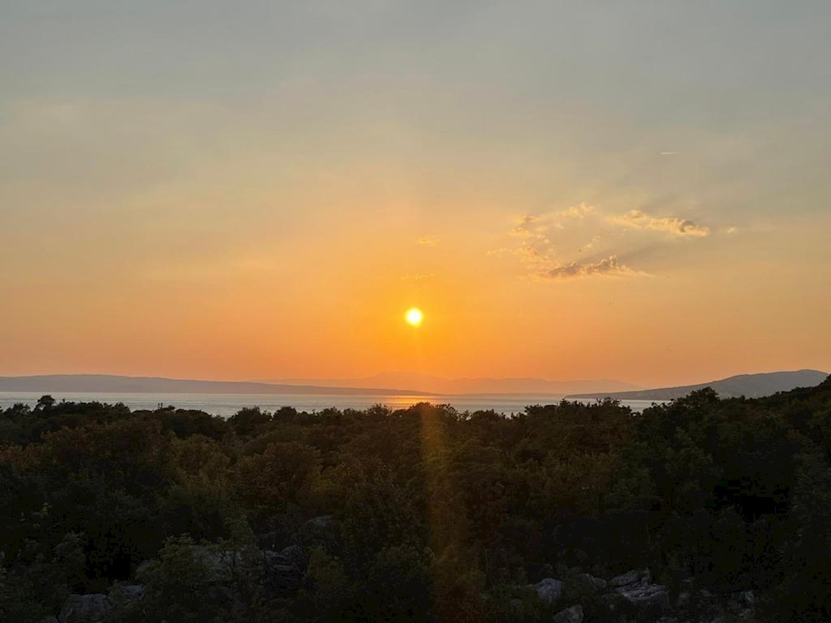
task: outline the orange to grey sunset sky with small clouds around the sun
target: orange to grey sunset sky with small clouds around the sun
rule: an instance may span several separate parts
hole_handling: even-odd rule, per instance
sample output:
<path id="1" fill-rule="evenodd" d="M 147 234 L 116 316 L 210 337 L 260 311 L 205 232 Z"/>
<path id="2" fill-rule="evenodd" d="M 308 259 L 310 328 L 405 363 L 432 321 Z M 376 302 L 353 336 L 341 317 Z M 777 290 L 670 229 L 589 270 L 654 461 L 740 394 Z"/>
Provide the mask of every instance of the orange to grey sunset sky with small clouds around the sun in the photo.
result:
<path id="1" fill-rule="evenodd" d="M 829 23 L 5 0 L 0 375 L 831 370 Z"/>

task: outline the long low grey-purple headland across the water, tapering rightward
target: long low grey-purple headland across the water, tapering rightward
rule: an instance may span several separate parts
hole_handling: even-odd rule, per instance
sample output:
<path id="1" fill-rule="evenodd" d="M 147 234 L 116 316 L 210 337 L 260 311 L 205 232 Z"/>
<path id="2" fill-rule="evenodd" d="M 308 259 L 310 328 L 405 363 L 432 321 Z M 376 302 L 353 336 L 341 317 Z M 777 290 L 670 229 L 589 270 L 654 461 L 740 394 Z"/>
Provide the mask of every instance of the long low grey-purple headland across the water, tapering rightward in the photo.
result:
<path id="1" fill-rule="evenodd" d="M 380 387 L 318 387 L 234 380 L 179 380 L 114 375 L 0 376 L 0 391 L 42 391 L 44 393 L 69 391 L 112 394 L 425 394 L 421 391 Z"/>

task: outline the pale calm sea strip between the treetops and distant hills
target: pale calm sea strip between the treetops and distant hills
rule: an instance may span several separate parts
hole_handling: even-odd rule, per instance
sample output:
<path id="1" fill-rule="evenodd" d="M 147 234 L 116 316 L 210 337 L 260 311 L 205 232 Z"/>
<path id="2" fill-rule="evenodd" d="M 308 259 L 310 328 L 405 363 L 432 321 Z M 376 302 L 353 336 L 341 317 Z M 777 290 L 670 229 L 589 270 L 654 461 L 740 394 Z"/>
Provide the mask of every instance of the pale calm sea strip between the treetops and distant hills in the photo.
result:
<path id="1" fill-rule="evenodd" d="M 43 392 L 0 392 L 0 409 L 22 402 L 34 406 Z M 298 411 L 320 411 L 337 409 L 366 409 L 372 405 L 386 405 L 391 409 L 406 409 L 419 402 L 434 405 L 453 405 L 460 411 L 492 409 L 509 415 L 521 413 L 527 405 L 552 405 L 561 396 L 553 395 L 452 395 L 452 396 L 411 396 L 411 395 L 313 395 L 313 394 L 111 394 L 111 393 L 55 393 L 56 400 L 71 402 L 122 402 L 130 409 L 155 409 L 159 405 L 174 405 L 179 409 L 197 409 L 212 415 L 234 415 L 243 407 L 258 406 L 273 411 L 290 406 Z M 592 402 L 592 400 L 583 400 Z M 622 400 L 633 411 L 640 412 L 652 405 L 652 400 Z M 661 402 L 661 401 L 658 401 Z"/>

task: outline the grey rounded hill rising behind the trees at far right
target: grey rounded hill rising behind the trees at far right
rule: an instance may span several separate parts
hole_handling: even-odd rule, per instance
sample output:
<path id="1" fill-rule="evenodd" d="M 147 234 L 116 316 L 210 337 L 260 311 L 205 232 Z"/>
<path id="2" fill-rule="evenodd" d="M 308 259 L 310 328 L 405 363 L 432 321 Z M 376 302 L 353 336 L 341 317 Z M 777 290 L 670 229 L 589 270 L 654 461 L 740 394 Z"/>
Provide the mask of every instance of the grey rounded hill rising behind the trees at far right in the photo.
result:
<path id="1" fill-rule="evenodd" d="M 827 377 L 828 372 L 819 370 L 794 370 L 787 372 L 766 372 L 755 375 L 737 375 L 726 379 L 713 380 L 710 383 L 698 385 L 682 385 L 680 387 L 661 387 L 655 390 L 638 391 L 602 391 L 572 394 L 567 398 L 614 398 L 618 400 L 672 400 L 681 398 L 691 391 L 703 390 L 711 387 L 721 398 L 761 398 L 775 394 L 778 391 L 794 390 L 797 387 L 813 387 L 819 385 Z"/>

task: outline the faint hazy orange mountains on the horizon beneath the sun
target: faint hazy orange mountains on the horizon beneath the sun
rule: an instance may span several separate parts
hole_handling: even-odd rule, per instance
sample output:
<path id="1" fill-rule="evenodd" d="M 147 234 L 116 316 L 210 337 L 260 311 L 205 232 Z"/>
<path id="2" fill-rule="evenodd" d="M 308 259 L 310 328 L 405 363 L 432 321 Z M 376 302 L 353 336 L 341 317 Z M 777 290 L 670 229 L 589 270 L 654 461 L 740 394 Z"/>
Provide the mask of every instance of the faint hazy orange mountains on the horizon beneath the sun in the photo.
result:
<path id="1" fill-rule="evenodd" d="M 522 394 L 563 396 L 589 391 L 625 391 L 640 389 L 637 385 L 619 380 L 545 380 L 529 377 L 494 379 L 460 378 L 447 379 L 441 376 L 417 372 L 383 372 L 357 379 L 274 379 L 268 383 L 291 383 L 321 387 L 406 387 L 421 393 L 443 395 L 459 394 Z"/>

